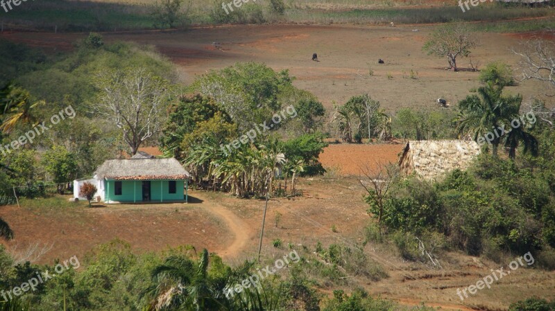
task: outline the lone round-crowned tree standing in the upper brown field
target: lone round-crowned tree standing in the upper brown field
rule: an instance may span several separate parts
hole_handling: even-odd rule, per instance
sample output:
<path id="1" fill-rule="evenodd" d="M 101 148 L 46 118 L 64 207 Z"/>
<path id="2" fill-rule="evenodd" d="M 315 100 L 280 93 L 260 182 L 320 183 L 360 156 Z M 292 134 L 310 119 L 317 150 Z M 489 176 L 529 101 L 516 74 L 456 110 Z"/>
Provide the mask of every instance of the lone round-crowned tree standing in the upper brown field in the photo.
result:
<path id="1" fill-rule="evenodd" d="M 457 71 L 456 57 L 467 57 L 470 55 L 470 48 L 475 46 L 477 46 L 477 42 L 470 28 L 462 22 L 456 22 L 435 30 L 429 35 L 428 41 L 422 49 L 428 55 L 447 56 L 449 69 Z"/>

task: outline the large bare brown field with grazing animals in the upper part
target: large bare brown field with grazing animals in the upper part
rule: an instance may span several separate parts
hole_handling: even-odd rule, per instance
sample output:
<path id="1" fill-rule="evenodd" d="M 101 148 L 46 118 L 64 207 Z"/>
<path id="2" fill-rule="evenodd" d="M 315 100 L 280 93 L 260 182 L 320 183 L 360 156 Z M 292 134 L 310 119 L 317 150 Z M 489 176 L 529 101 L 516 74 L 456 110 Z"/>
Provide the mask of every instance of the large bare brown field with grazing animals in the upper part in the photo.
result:
<path id="1" fill-rule="evenodd" d="M 289 69 L 301 89 L 318 96 L 328 109 L 332 103 L 368 93 L 388 111 L 401 107 L 438 109 L 437 98 L 454 104 L 478 87 L 478 73 L 445 71 L 447 62 L 422 52 L 422 44 L 433 26 L 302 26 L 249 25 L 194 28 L 188 31 L 105 33 L 107 41 L 129 40 L 155 46 L 177 64 L 182 82 L 196 75 L 221 69 L 235 62 L 264 62 L 275 70 Z M 413 31 L 418 30 L 418 31 Z M 33 46 L 68 49 L 85 34 L 4 33 L 0 37 Z M 472 51 L 472 62 L 484 66 L 503 60 L 518 67 L 522 35 L 479 33 L 481 46 Z M 214 48 L 212 42 L 220 42 Z M 320 62 L 310 60 L 318 53 Z M 385 64 L 378 64 L 382 58 Z M 469 60 L 459 60 L 468 68 Z M 370 76 L 369 69 L 373 70 Z M 410 71 L 418 79 L 409 78 Z M 393 75 L 388 80 L 387 74 Z M 507 91 L 521 93 L 527 101 L 538 94 L 536 82 L 522 82 Z"/>

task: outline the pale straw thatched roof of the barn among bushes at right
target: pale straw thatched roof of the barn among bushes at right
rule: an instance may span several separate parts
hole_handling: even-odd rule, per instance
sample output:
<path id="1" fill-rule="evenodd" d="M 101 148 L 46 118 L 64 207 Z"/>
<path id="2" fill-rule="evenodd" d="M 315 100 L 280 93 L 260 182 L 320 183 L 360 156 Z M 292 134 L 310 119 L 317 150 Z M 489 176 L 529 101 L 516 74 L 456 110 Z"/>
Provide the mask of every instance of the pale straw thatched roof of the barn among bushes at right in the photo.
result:
<path id="1" fill-rule="evenodd" d="M 466 170 L 480 153 L 475 141 L 409 141 L 399 159 L 402 172 L 416 172 L 424 179 L 436 179 L 445 172 Z"/>

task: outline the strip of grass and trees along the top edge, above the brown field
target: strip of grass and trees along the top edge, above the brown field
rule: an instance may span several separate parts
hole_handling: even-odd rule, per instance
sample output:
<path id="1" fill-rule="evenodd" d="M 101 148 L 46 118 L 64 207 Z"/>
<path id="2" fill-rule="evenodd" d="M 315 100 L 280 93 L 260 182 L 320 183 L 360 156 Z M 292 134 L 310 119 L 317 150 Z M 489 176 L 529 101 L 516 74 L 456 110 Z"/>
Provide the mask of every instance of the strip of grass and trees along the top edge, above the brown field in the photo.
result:
<path id="1" fill-rule="evenodd" d="M 253 1 L 254 2 L 254 1 Z M 444 6 L 421 6 L 420 1 L 413 1 L 398 8 L 399 3 L 377 1 L 377 8 L 357 6 L 357 0 L 333 1 L 331 8 L 323 10 L 314 1 L 287 3 L 271 0 L 267 3 L 244 3 L 240 10 L 226 14 L 222 1 L 177 1 L 163 0 L 128 1 L 126 3 L 98 2 L 94 5 L 85 3 L 66 3 L 61 0 L 33 3 L 26 10 L 12 10 L 6 15 L 4 28 L 28 28 L 58 31 L 113 31 L 182 28 L 193 24 L 262 24 L 266 22 L 311 24 L 428 24 L 445 23 L 457 19 L 464 21 L 495 21 L 486 25 L 487 30 L 514 32 L 543 30 L 552 26 L 549 20 L 510 21 L 524 17 L 553 16 L 549 8 L 529 10 L 526 6 L 484 6 L 479 10 L 470 10 L 461 14 L 456 4 Z M 367 3 L 364 3 L 367 4 Z M 357 8 L 353 8 L 357 6 Z M 502 22 L 499 22 L 502 21 Z M 477 28 L 483 30 L 484 25 Z M 553 27 L 551 27 L 553 28 Z"/>

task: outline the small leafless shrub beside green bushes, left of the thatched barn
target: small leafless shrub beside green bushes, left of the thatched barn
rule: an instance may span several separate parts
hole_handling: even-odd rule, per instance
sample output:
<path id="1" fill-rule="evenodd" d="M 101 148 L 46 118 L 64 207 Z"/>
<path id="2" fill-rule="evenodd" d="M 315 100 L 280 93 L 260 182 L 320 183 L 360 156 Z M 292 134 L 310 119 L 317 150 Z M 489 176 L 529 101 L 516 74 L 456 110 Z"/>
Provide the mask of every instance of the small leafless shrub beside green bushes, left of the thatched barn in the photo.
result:
<path id="1" fill-rule="evenodd" d="M 374 170 L 369 168 L 368 164 L 364 164 L 364 167 L 361 167 L 360 170 L 364 177 L 359 177 L 359 182 L 368 193 L 370 204 L 374 204 L 378 209 L 377 222 L 382 222 L 384 199 L 395 181 L 398 181 L 401 176 L 399 166 L 393 163 L 384 164 L 376 161 Z"/>

